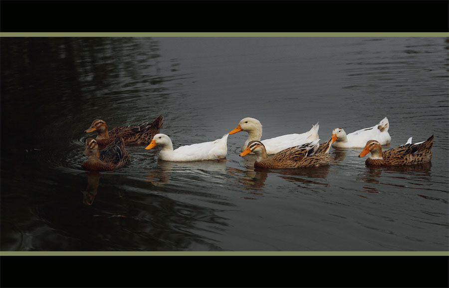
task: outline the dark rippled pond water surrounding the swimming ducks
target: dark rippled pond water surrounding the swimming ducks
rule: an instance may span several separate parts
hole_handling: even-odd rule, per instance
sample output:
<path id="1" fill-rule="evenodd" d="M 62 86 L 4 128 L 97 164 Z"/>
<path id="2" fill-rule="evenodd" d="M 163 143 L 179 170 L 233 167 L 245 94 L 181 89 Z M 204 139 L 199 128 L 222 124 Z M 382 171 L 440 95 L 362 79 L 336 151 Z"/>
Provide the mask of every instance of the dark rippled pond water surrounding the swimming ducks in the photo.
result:
<path id="1" fill-rule="evenodd" d="M 448 41 L 443 37 L 1 38 L 2 251 L 448 251 Z M 240 119 L 262 139 L 319 122 L 322 141 L 390 121 L 391 146 L 435 134 L 430 165 L 320 168 L 223 161 L 81 169 L 84 130 L 164 115 L 174 147 Z M 389 148 L 389 147 L 385 147 Z"/>

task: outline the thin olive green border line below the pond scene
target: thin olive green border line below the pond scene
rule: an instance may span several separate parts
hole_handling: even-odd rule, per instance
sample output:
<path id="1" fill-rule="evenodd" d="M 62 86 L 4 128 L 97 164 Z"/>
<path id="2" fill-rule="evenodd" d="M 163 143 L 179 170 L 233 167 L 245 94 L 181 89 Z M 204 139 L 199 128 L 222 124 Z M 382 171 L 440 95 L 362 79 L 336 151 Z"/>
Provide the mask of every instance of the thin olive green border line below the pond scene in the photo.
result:
<path id="1" fill-rule="evenodd" d="M 0 256 L 449 256 L 449 251 L 243 251 L 243 252 L 142 252 L 142 251 L 2 251 Z"/>

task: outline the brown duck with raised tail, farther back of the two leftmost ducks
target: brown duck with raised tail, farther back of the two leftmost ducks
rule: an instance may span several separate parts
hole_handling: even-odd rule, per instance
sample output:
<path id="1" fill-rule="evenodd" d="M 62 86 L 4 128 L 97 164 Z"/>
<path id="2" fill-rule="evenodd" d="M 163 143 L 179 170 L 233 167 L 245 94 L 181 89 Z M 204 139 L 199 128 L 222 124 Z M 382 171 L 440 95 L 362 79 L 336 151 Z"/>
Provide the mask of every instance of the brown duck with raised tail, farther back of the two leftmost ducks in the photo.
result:
<path id="1" fill-rule="evenodd" d="M 101 146 L 108 145 L 117 137 L 122 137 L 126 144 L 146 144 L 153 139 L 154 135 L 159 133 L 163 123 L 164 116 L 161 115 L 151 123 L 144 122 L 139 125 L 118 126 L 108 131 L 105 121 L 95 119 L 92 125 L 84 132 L 90 133 L 96 130 L 98 135 L 95 140 Z"/>

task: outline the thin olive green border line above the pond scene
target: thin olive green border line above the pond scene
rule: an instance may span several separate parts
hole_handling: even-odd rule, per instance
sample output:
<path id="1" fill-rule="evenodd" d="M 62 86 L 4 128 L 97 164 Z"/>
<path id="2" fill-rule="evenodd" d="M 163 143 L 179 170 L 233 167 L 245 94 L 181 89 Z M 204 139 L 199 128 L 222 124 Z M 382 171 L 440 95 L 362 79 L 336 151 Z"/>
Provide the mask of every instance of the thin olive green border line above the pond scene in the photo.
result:
<path id="1" fill-rule="evenodd" d="M 449 32 L 0 32 L 0 37 L 449 37 Z"/>

